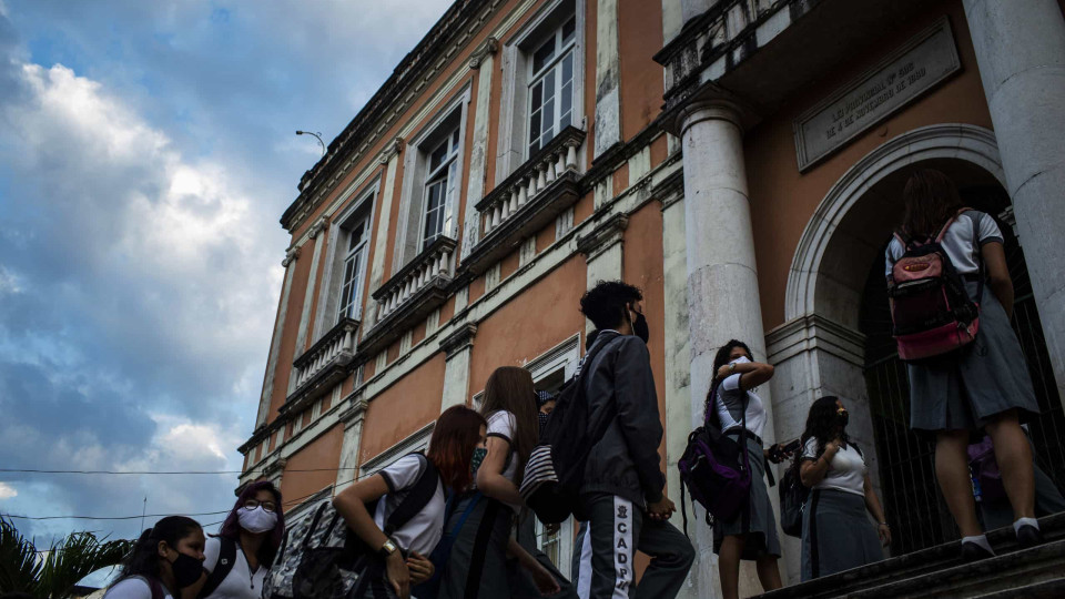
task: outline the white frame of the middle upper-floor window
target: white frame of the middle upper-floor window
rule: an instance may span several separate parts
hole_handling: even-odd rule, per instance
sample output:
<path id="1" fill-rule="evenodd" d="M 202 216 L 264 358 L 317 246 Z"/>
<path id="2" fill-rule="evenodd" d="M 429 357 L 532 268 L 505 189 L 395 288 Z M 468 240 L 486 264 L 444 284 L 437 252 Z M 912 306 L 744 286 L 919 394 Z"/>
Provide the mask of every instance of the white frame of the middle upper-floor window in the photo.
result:
<path id="1" fill-rule="evenodd" d="M 396 272 L 414 260 L 425 247 L 425 215 L 428 200 L 428 185 L 440 170 L 428 172 L 432 152 L 444 142 L 444 135 L 450 139 L 458 126 L 458 148 L 448 156 L 445 166 L 455 173 L 455 181 L 448 181 L 449 193 L 445 193 L 444 224 L 440 235 L 457 238 L 459 217 L 458 205 L 464 193 L 463 169 L 466 158 L 466 124 L 469 122 L 470 85 L 467 82 L 452 99 L 436 111 L 435 116 L 410 136 L 403 156 L 403 186 L 400 190 L 399 222 L 396 226 L 395 252 L 392 272 Z M 457 123 L 456 123 L 457 121 Z"/>

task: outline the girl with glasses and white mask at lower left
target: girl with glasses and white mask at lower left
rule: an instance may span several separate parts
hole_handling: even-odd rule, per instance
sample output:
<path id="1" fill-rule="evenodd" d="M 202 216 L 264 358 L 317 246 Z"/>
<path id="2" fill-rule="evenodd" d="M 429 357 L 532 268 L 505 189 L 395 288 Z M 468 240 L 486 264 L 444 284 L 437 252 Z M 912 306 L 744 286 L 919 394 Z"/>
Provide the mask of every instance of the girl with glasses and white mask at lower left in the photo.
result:
<path id="1" fill-rule="evenodd" d="M 285 535 L 281 491 L 252 483 L 241 491 L 216 537 L 204 546 L 204 573 L 182 590 L 184 599 L 258 599 L 266 571 Z"/>

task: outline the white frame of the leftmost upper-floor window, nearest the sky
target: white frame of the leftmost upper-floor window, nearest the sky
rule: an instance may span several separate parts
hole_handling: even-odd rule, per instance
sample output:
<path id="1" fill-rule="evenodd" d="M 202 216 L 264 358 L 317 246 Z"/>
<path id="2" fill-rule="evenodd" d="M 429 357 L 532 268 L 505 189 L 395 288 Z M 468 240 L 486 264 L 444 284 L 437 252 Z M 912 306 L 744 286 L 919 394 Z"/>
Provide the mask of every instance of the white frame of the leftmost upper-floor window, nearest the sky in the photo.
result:
<path id="1" fill-rule="evenodd" d="M 374 233 L 374 215 L 377 210 L 377 197 L 379 195 L 381 179 L 373 185 L 364 187 L 358 193 L 355 190 L 348 190 L 348 197 L 355 197 L 346 207 L 344 207 L 329 226 L 328 253 L 326 255 L 325 268 L 322 273 L 322 283 L 318 287 L 318 304 L 314 321 L 314 339 L 317 342 L 322 336 L 329 332 L 337 322 L 339 322 L 341 294 L 344 291 L 344 267 L 347 258 L 347 241 L 351 235 L 352 225 L 364 222 L 365 231 L 363 233 L 363 253 L 359 260 L 357 298 L 355 300 L 355 313 L 353 318 L 362 318 L 363 301 L 366 296 L 365 282 L 366 268 L 369 264 L 371 240 Z M 365 219 L 365 221 L 363 221 Z M 384 224 L 387 227 L 387 223 Z M 343 247 L 343 248 L 342 248 Z"/>

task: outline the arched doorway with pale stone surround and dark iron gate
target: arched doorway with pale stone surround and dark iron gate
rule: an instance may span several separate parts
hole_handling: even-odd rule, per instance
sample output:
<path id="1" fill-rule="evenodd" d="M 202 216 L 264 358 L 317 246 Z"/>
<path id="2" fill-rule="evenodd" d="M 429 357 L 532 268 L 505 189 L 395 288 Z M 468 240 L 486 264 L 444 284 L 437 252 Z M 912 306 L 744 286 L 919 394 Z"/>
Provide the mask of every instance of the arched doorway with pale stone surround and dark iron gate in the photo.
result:
<path id="1" fill-rule="evenodd" d="M 778 366 L 778 375 L 784 377 L 774 389 L 775 385 L 798 388 L 800 393 L 792 396 L 804 395 L 807 402 L 819 395 L 840 395 L 859 408 L 852 410 L 850 428 L 859 443 L 875 448 L 868 451 L 873 454 L 871 474 L 895 530 L 894 555 L 956 538 L 935 488 L 931 445 L 909 430 L 905 369 L 894 355 L 890 328 L 885 333 L 890 316 L 883 251 L 901 216 L 902 185 L 917 165 L 946 172 L 973 207 L 1008 217 L 1010 213 L 1004 213 L 1008 207 L 1004 176 L 991 131 L 940 124 L 894 138 L 854 164 L 819 205 L 792 262 L 785 297 L 788 325 L 774 332 L 781 347 L 798 346 L 795 337 L 804 339 L 801 352 L 781 358 L 784 364 Z M 1048 458 L 1045 461 L 1062 470 L 1051 474 L 1065 481 L 1065 451 L 1058 440 L 1058 432 L 1065 433 L 1061 400 L 1022 251 L 1012 227 L 1001 225 L 1010 238 L 1017 288 L 1015 327 L 1043 409 L 1034 423 L 1033 438 L 1036 449 Z M 783 343 L 785 336 L 791 341 Z M 787 363 L 793 359 L 799 366 L 789 367 Z M 778 417 L 779 435 L 801 430 L 804 410 L 802 402 L 798 404 L 790 409 L 791 422 L 781 423 Z"/>

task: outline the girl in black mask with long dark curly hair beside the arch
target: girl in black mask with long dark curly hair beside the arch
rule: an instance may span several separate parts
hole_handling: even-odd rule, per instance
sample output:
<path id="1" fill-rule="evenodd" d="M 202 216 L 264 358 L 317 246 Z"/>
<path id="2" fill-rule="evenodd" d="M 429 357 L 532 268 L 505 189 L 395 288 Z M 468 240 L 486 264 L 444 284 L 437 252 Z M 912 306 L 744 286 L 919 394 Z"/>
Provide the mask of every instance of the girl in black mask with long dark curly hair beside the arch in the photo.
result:
<path id="1" fill-rule="evenodd" d="M 848 412 L 835 397 L 810 406 L 797 463 L 811 489 L 802 514 L 802 580 L 884 559 L 891 528 L 873 490 L 865 458 L 846 436 Z M 866 511 L 876 521 L 869 520 Z M 879 536 L 879 538 L 878 538 Z"/>

